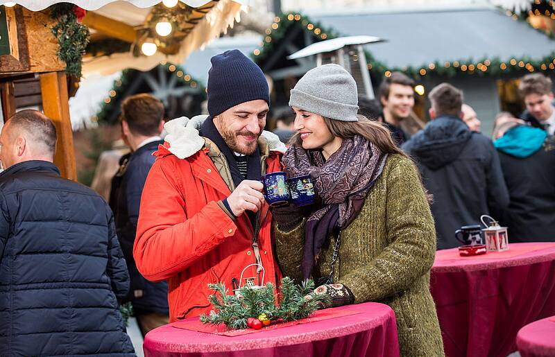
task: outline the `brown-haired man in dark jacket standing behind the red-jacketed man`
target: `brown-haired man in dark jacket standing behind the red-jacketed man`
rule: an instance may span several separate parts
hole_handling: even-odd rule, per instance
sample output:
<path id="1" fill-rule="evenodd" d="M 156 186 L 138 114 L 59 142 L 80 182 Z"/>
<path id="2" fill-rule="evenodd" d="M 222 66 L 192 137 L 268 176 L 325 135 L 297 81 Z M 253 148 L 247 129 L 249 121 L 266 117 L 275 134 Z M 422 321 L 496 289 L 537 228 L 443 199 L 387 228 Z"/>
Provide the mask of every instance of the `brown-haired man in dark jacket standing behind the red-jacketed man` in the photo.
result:
<path id="1" fill-rule="evenodd" d="M 119 243 L 126 258 L 131 288 L 124 300 L 133 304 L 133 313 L 143 337 L 148 331 L 169 322 L 168 284 L 144 279 L 133 259 L 133 243 L 141 195 L 152 155 L 164 141 L 164 105 L 151 94 L 136 94 L 121 104 L 121 131 L 131 153 L 120 160 L 120 168 L 112 180 L 110 207 L 114 211 Z"/>

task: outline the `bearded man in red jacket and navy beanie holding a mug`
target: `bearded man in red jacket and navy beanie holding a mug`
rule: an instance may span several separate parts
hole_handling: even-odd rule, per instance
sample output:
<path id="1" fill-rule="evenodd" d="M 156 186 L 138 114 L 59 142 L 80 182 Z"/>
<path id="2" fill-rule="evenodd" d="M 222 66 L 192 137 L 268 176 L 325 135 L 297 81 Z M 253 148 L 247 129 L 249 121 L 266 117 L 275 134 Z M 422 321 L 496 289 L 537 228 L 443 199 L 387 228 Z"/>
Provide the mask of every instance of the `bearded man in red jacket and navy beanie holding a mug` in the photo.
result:
<path id="1" fill-rule="evenodd" d="M 133 249 L 146 279 L 169 279 L 170 322 L 209 313 L 209 283 L 277 286 L 280 277 L 259 181 L 281 171 L 286 149 L 263 132 L 268 83 L 237 50 L 211 61 L 210 116 L 165 125 L 167 142 L 146 179 Z"/>

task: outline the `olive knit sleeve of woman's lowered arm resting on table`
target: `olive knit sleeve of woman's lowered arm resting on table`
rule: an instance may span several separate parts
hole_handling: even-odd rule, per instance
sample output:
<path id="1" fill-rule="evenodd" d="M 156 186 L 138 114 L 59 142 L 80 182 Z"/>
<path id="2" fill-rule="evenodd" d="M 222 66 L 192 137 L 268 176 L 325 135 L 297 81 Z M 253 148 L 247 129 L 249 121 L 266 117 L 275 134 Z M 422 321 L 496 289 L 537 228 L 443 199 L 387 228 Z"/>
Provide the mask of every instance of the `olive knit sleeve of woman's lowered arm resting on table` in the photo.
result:
<path id="1" fill-rule="evenodd" d="M 341 277 L 355 303 L 380 301 L 407 289 L 432 268 L 436 253 L 434 219 L 416 167 L 402 159 L 386 177 L 388 245 L 368 265 Z M 378 238 L 379 239 L 379 238 Z"/>

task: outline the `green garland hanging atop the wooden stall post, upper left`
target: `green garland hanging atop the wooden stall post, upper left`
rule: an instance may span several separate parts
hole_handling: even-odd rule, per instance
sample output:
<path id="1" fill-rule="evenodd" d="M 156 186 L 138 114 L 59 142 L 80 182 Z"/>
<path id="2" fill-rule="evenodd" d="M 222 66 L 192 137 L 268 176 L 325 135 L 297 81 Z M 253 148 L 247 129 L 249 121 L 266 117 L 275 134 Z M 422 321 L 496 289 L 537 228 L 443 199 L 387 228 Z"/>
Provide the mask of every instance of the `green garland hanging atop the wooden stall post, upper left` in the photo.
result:
<path id="1" fill-rule="evenodd" d="M 58 20 L 58 24 L 54 25 L 51 31 L 58 38 L 59 47 L 56 54 L 65 62 L 66 73 L 81 78 L 83 55 L 89 43 L 89 28 L 78 23 L 73 9 L 72 3 L 51 6 L 50 17 Z"/>

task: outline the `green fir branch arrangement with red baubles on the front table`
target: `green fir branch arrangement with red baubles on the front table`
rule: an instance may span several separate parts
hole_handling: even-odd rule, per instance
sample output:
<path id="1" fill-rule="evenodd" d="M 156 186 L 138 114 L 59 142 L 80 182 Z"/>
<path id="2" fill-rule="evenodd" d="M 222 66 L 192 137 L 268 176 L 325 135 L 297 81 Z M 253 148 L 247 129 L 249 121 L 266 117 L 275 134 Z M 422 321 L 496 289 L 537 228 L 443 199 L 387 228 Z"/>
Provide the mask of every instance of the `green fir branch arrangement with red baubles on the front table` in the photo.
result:
<path id="1" fill-rule="evenodd" d="M 309 317 L 321 302 L 326 302 L 327 295 L 314 294 L 314 281 L 303 281 L 300 286 L 289 277 L 284 277 L 280 286 L 280 303 L 276 305 L 274 286 L 266 284 L 264 288 L 253 289 L 244 286 L 239 295 L 227 295 L 225 284 L 208 284 L 214 294 L 208 297 L 213 309 L 209 314 L 200 315 L 204 324 L 225 324 L 229 329 L 245 329 L 248 317 L 257 318 L 264 314 L 269 320 L 284 322 Z"/>

